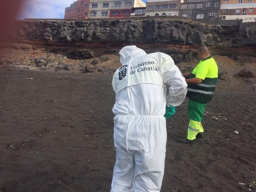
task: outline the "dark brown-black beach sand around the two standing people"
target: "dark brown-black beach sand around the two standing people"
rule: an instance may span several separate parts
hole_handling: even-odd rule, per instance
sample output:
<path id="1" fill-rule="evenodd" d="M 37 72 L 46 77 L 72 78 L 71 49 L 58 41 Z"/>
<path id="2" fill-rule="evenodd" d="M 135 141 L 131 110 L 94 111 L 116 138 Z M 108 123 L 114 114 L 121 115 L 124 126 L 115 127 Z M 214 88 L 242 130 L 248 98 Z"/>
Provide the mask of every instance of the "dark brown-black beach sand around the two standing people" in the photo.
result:
<path id="1" fill-rule="evenodd" d="M 111 80 L 104 74 L 0 71 L 0 192 L 110 191 Z M 205 138 L 185 145 L 176 139 L 186 137 L 186 99 L 167 121 L 161 191 L 255 191 L 255 99 L 253 90 L 217 88 L 206 106 Z"/>

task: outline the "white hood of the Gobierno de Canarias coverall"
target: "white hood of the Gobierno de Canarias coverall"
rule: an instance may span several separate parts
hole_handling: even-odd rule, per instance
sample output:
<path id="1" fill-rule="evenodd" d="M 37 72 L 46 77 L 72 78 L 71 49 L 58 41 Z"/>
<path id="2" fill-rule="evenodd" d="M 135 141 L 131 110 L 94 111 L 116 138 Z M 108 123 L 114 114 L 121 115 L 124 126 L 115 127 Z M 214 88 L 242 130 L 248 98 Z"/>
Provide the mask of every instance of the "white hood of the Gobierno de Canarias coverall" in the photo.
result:
<path id="1" fill-rule="evenodd" d="M 132 57 L 146 55 L 146 52 L 136 46 L 125 46 L 119 51 L 120 62 L 124 65 L 125 60 L 130 60 Z"/>

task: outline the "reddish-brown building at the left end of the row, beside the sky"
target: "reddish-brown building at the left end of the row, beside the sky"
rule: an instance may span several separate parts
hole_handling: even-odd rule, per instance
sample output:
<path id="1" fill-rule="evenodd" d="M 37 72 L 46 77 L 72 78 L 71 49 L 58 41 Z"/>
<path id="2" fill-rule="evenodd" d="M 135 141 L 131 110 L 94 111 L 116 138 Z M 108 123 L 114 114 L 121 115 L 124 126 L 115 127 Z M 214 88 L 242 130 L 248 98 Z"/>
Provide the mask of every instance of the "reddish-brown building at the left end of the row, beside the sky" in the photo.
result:
<path id="1" fill-rule="evenodd" d="M 77 0 L 65 8 L 64 18 L 87 18 L 90 0 Z"/>

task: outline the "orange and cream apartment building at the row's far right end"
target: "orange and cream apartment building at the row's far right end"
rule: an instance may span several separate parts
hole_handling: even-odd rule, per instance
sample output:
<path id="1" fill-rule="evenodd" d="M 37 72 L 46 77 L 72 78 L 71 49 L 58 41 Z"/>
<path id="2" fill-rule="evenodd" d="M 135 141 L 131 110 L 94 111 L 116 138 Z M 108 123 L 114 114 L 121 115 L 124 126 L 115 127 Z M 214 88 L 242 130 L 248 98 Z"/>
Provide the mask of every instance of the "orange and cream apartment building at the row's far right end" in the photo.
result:
<path id="1" fill-rule="evenodd" d="M 220 20 L 256 18 L 256 0 L 221 0 Z"/>

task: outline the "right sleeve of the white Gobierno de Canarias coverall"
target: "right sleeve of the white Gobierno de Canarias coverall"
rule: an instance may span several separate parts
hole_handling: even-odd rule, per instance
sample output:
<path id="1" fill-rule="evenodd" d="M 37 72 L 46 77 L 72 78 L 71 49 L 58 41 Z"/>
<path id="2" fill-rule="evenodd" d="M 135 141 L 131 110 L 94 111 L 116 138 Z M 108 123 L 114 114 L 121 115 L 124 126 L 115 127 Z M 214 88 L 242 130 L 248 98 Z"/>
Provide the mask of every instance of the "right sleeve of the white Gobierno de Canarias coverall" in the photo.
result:
<path id="1" fill-rule="evenodd" d="M 161 74 L 164 83 L 169 87 L 166 97 L 166 105 L 178 106 L 185 100 L 187 93 L 187 83 L 179 68 L 174 64 L 174 60 L 169 55 L 163 54 L 161 58 Z"/>

